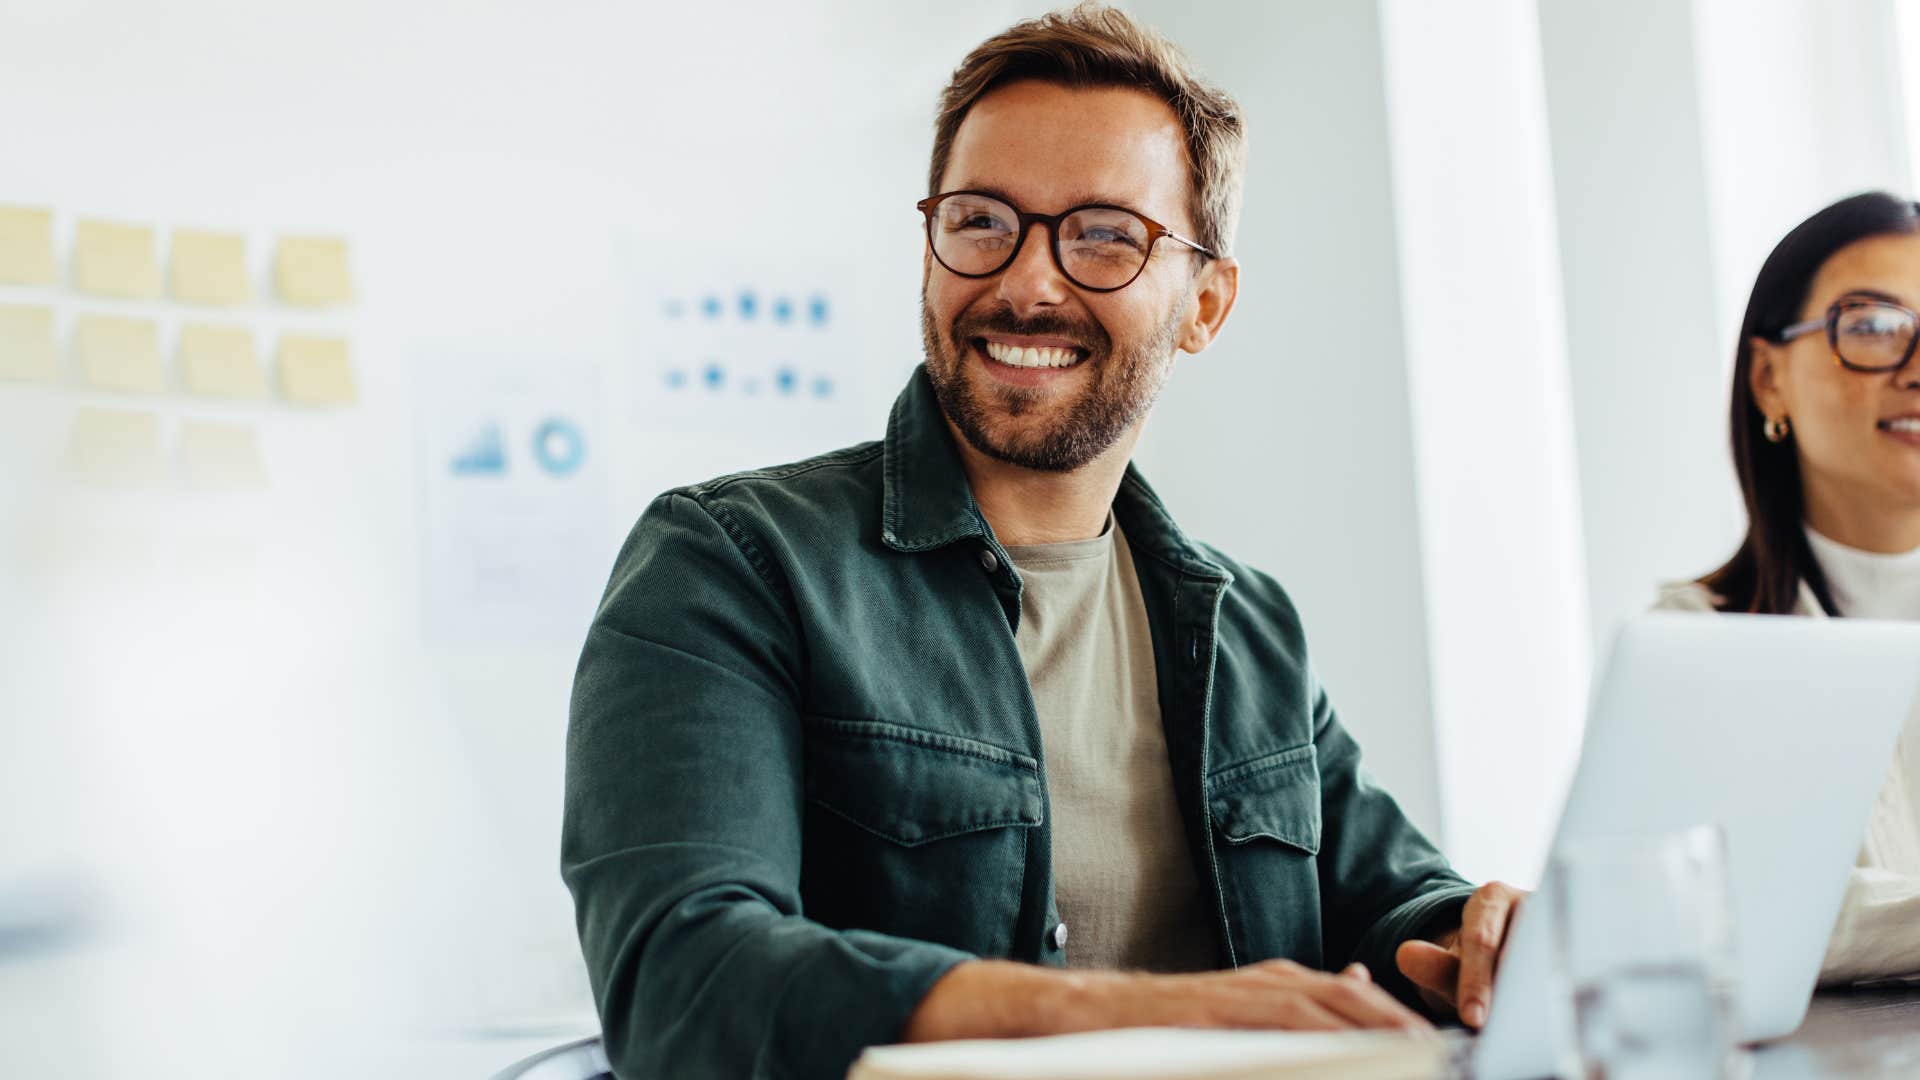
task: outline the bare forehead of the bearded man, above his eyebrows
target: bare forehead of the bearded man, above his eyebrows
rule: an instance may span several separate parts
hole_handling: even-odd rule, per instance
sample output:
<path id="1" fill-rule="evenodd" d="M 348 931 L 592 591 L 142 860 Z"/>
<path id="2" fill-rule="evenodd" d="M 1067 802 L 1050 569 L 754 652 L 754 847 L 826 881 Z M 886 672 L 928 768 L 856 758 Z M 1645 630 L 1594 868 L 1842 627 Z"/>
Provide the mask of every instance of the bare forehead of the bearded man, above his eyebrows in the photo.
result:
<path id="1" fill-rule="evenodd" d="M 1043 213 L 1114 202 L 1173 225 L 1185 221 L 1188 183 L 1181 119 L 1160 98 L 1025 81 L 968 111 L 941 186 L 1000 192 Z"/>

